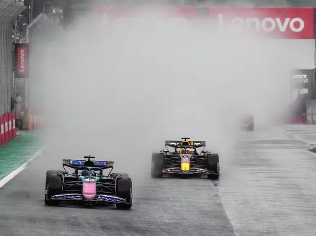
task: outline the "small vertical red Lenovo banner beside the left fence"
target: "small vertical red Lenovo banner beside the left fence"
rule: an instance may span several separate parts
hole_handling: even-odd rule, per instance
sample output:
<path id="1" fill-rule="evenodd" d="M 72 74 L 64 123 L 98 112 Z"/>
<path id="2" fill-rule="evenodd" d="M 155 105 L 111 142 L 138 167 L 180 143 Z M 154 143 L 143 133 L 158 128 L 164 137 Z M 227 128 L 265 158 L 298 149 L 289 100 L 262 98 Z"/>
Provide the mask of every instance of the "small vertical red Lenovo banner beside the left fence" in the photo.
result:
<path id="1" fill-rule="evenodd" d="M 15 43 L 15 78 L 29 78 L 28 43 Z"/>

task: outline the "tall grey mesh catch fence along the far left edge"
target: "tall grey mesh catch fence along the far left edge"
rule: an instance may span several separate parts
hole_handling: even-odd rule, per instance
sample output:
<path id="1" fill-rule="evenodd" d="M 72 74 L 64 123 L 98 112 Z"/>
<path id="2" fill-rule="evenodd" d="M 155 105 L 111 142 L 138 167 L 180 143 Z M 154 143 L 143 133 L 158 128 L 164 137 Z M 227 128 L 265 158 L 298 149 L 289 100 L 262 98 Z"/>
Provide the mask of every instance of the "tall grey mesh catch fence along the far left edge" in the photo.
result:
<path id="1" fill-rule="evenodd" d="M 13 23 L 26 9 L 12 0 L 0 0 L 0 116 L 11 111 L 13 96 Z"/>

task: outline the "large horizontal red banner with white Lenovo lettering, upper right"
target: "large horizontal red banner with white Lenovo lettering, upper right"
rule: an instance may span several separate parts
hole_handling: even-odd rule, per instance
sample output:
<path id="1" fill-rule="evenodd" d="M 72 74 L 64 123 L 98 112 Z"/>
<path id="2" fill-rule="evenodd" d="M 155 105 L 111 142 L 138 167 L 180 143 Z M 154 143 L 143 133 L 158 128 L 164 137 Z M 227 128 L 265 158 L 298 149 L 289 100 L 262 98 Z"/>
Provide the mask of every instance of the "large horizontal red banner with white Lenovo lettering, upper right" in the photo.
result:
<path id="1" fill-rule="evenodd" d="M 250 31 L 271 38 L 312 39 L 313 8 L 209 8 L 220 29 Z"/>

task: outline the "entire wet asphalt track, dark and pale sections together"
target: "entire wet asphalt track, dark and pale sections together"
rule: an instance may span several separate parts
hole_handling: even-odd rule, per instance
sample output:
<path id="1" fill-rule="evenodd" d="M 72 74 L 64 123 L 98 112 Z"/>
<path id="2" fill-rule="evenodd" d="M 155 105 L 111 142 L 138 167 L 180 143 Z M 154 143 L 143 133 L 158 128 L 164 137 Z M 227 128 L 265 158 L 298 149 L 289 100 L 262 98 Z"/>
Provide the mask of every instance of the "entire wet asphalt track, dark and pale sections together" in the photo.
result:
<path id="1" fill-rule="evenodd" d="M 0 188 L 0 235 L 315 235 L 316 154 L 299 140 L 305 131 L 288 130 L 295 136 L 278 127 L 243 133 L 216 186 L 207 179 L 134 181 L 127 211 L 44 205 L 50 168 L 40 157 Z"/>

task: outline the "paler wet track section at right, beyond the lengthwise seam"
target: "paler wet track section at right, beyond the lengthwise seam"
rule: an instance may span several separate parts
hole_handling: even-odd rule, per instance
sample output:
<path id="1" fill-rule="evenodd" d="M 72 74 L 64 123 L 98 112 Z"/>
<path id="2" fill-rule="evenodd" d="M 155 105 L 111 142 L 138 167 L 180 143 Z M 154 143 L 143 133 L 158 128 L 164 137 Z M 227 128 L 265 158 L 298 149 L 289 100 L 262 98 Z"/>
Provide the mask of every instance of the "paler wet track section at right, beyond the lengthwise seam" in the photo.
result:
<path id="1" fill-rule="evenodd" d="M 316 155 L 289 127 L 243 134 L 248 140 L 218 183 L 236 234 L 315 235 Z"/>

